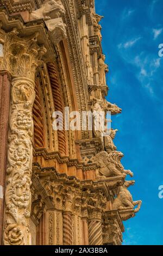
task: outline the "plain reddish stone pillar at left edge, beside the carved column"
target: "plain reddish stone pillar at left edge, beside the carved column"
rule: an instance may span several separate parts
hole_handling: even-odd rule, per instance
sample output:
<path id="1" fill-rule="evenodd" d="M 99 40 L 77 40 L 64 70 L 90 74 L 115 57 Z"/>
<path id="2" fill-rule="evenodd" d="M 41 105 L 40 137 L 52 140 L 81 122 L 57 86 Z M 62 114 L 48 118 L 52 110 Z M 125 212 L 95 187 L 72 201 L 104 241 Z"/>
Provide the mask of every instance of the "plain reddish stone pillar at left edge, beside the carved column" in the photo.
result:
<path id="1" fill-rule="evenodd" d="M 0 71 L 0 245 L 2 244 L 5 169 L 7 162 L 10 78 L 10 74 L 7 71 Z"/>

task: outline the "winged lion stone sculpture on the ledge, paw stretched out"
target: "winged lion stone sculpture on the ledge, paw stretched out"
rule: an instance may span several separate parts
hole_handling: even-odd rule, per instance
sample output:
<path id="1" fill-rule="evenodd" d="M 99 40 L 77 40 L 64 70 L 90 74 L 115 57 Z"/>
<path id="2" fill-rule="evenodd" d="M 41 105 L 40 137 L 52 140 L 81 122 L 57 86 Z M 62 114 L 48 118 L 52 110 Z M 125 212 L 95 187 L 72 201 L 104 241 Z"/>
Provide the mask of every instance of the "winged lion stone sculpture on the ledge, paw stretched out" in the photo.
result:
<path id="1" fill-rule="evenodd" d="M 108 154 L 106 151 L 98 153 L 93 161 L 97 164 L 96 179 L 106 179 L 108 177 L 129 174 L 131 177 L 133 173 L 130 170 L 124 170 L 121 164 L 123 154 L 120 151 L 112 151 Z"/>

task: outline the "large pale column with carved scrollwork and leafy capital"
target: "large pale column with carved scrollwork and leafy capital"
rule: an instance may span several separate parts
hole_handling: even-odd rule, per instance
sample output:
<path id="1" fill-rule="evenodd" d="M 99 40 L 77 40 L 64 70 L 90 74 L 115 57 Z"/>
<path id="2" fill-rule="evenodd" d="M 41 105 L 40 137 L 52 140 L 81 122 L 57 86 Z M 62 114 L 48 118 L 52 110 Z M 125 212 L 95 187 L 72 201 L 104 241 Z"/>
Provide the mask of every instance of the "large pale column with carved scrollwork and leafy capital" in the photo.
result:
<path id="1" fill-rule="evenodd" d="M 26 38 L 20 38 L 17 34 L 16 29 L 3 33 L 2 65 L 12 75 L 4 212 L 5 245 L 30 244 L 34 78 L 37 65 L 46 52 L 45 47 L 36 44 L 37 34 Z"/>

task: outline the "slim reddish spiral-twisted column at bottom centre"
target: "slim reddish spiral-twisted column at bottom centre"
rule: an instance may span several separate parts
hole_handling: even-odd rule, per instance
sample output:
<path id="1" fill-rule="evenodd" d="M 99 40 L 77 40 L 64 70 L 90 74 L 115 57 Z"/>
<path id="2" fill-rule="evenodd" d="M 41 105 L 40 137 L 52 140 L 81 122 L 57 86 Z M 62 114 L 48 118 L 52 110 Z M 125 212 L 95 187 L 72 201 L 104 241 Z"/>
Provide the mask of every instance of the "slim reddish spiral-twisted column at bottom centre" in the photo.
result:
<path id="1" fill-rule="evenodd" d="M 65 196 L 63 212 L 63 244 L 72 245 L 72 193 Z"/>

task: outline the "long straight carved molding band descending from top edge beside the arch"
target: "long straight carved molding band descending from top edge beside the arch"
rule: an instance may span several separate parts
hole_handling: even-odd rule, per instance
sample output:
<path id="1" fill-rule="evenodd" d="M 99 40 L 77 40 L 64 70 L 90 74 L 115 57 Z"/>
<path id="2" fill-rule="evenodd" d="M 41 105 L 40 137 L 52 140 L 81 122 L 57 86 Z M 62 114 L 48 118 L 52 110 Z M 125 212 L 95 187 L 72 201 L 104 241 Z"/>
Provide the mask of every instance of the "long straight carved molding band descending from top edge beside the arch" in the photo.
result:
<path id="1" fill-rule="evenodd" d="M 83 52 L 81 47 L 81 39 L 78 29 L 78 21 L 76 17 L 76 6 L 73 0 L 64 1 L 66 10 L 64 23 L 67 25 L 67 47 L 70 54 L 70 62 L 73 73 L 74 85 L 76 88 L 76 97 L 79 113 L 88 110 L 87 99 L 87 81 L 85 77 Z M 76 46 L 76 47 L 74 47 Z M 82 139 L 89 138 L 89 131 L 81 131 Z"/>

